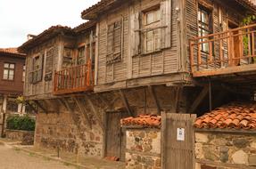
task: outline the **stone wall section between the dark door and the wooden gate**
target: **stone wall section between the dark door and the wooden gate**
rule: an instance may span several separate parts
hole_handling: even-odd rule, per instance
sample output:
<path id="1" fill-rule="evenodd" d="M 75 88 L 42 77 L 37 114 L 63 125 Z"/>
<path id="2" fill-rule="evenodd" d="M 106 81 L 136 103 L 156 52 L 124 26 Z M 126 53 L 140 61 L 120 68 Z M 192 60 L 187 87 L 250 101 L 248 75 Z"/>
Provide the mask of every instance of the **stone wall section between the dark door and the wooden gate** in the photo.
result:
<path id="1" fill-rule="evenodd" d="M 126 168 L 161 169 L 161 130 L 128 128 L 126 132 Z"/>

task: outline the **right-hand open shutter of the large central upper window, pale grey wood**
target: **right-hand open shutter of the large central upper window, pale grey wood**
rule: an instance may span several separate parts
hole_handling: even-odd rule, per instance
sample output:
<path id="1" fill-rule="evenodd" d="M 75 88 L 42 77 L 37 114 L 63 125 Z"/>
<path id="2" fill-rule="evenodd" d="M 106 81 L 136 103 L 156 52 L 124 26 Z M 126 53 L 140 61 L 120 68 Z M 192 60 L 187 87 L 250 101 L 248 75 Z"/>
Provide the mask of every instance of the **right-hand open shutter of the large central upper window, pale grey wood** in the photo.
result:
<path id="1" fill-rule="evenodd" d="M 171 46 L 171 0 L 161 2 L 161 48 Z"/>

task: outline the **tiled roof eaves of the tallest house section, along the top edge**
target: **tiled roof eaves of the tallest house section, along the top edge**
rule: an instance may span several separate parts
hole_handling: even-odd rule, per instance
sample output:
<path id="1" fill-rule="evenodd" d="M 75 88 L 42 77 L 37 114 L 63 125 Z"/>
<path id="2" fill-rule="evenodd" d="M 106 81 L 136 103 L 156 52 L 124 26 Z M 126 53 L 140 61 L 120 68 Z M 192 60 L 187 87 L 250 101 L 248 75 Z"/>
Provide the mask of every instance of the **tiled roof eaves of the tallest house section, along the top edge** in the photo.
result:
<path id="1" fill-rule="evenodd" d="M 102 12 L 104 9 L 109 8 L 111 4 L 116 3 L 118 0 L 101 0 L 97 4 L 92 5 L 87 8 L 83 12 L 81 12 L 81 16 L 85 20 L 92 20 L 95 17 L 95 13 Z M 236 2 L 243 4 L 245 7 L 251 9 L 252 11 L 256 11 L 256 6 L 249 0 L 235 0 Z"/>

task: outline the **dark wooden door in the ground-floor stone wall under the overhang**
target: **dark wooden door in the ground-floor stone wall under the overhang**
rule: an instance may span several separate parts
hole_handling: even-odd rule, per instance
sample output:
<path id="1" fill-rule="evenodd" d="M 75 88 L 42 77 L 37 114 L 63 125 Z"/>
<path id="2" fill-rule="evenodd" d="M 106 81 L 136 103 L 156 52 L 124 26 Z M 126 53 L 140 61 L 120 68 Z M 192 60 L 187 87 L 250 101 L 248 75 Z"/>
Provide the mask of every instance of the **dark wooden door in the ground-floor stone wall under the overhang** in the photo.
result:
<path id="1" fill-rule="evenodd" d="M 125 131 L 120 127 L 120 119 L 123 117 L 128 117 L 128 113 L 106 112 L 104 157 L 119 157 L 120 161 L 125 160 Z"/>

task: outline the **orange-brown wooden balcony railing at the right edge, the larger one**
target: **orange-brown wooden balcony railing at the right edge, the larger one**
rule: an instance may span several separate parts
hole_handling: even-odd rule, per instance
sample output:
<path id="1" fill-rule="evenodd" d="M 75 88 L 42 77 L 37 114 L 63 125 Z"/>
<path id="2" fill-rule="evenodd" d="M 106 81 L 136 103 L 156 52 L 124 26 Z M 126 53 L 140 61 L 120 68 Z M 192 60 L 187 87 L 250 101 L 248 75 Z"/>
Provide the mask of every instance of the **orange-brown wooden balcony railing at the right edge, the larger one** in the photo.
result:
<path id="1" fill-rule="evenodd" d="M 190 42 L 193 76 L 256 71 L 256 24 L 229 29 Z"/>

